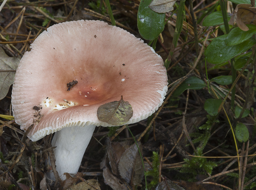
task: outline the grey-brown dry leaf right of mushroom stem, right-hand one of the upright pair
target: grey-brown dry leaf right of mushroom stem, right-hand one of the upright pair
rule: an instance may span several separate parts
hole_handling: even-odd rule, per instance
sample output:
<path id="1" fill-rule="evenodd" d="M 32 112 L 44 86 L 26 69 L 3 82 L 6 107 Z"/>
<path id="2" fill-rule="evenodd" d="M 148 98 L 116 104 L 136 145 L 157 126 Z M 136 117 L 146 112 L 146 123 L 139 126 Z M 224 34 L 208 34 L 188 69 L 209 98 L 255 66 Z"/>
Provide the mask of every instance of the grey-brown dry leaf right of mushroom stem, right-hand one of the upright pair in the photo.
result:
<path id="1" fill-rule="evenodd" d="M 138 142 L 140 152 L 142 153 L 142 145 Z M 132 144 L 125 150 L 120 158 L 118 170 L 121 177 L 132 186 L 140 184 L 144 170 L 141 163 L 140 154 L 136 144 Z"/>

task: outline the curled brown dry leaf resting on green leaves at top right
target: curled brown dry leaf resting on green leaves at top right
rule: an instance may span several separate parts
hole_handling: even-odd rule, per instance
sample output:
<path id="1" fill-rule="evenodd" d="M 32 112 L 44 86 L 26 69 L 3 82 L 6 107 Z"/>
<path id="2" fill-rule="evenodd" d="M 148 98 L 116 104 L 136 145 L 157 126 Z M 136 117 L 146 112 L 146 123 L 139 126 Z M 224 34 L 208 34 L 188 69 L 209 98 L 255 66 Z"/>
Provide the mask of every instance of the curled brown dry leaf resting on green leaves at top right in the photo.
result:
<path id="1" fill-rule="evenodd" d="M 229 24 L 236 22 L 237 26 L 244 31 L 249 30 L 246 24 L 256 25 L 256 7 L 251 4 L 238 4 L 232 13 Z"/>

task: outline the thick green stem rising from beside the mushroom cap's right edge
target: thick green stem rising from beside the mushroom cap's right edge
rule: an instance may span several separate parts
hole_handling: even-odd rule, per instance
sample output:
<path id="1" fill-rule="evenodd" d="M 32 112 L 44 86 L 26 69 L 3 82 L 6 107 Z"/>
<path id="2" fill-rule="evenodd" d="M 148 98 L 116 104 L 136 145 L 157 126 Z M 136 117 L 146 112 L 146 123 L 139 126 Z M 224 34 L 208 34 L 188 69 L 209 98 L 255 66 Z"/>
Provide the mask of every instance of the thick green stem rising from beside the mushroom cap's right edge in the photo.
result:
<path id="1" fill-rule="evenodd" d="M 177 12 L 177 19 L 176 19 L 176 26 L 175 26 L 175 30 L 174 30 L 174 36 L 173 36 L 173 39 L 172 39 L 172 47 L 171 47 L 171 50 L 169 52 L 168 58 L 167 58 L 167 60 L 165 60 L 165 63 L 164 63 L 164 66 L 165 66 L 166 69 L 169 67 L 169 65 L 171 63 L 172 55 L 174 53 L 175 48 L 177 47 L 180 32 L 182 30 L 183 18 L 184 18 L 184 15 L 185 15 L 184 4 L 185 4 L 185 0 L 180 0 L 180 6 L 179 6 L 178 12 Z"/>

